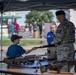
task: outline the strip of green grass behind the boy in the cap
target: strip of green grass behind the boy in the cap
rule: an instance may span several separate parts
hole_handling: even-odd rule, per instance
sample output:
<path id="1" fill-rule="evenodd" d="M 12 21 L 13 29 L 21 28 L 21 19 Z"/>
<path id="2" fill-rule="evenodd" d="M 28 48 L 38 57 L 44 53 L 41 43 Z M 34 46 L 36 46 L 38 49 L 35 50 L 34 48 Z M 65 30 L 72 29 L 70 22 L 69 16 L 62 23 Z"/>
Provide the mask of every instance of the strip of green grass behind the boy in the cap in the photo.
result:
<path id="1" fill-rule="evenodd" d="M 44 39 L 40 39 L 40 40 L 20 40 L 20 45 L 21 46 L 39 45 L 41 41 L 44 41 Z M 12 44 L 12 42 L 10 40 L 3 40 L 3 42 L 2 42 L 3 46 L 9 46 L 11 44 Z"/>

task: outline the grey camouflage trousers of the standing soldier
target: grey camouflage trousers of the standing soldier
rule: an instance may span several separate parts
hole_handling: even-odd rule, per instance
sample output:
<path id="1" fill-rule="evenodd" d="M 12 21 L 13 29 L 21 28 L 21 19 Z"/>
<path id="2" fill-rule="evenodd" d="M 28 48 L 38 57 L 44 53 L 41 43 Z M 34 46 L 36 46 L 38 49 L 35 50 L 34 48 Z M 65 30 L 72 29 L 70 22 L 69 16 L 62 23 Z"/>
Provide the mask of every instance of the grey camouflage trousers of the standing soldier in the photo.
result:
<path id="1" fill-rule="evenodd" d="M 72 43 L 62 44 L 57 46 L 57 60 L 71 60 L 74 56 L 74 45 Z M 73 66 L 70 66 L 71 69 Z M 67 63 L 63 63 L 63 67 L 61 68 L 61 72 L 68 72 Z"/>

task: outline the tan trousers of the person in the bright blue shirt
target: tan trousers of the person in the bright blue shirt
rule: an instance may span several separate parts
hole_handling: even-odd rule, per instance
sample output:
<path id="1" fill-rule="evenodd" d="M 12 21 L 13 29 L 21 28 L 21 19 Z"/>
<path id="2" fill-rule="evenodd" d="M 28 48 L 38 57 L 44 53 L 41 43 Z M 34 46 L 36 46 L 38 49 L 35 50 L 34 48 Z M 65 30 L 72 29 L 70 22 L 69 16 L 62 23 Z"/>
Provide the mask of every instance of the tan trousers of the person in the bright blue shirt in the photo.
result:
<path id="1" fill-rule="evenodd" d="M 47 48 L 47 57 L 49 59 L 51 59 L 51 58 L 57 58 L 56 47 L 48 47 Z"/>

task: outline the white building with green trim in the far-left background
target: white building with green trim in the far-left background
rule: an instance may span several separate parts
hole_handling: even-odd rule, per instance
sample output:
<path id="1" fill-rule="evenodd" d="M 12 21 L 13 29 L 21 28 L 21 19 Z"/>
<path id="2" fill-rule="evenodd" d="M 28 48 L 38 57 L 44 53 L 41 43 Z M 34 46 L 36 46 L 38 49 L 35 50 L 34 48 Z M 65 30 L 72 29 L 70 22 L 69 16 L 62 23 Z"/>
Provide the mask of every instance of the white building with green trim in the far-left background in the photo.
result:
<path id="1" fill-rule="evenodd" d="M 2 39 L 9 39 L 8 35 L 8 24 L 9 22 L 15 22 L 18 18 L 21 18 L 21 12 L 4 12 L 2 17 L 0 14 L 0 34 L 2 34 Z M 2 32 L 1 32 L 2 25 Z M 1 38 L 1 35 L 0 35 Z"/>

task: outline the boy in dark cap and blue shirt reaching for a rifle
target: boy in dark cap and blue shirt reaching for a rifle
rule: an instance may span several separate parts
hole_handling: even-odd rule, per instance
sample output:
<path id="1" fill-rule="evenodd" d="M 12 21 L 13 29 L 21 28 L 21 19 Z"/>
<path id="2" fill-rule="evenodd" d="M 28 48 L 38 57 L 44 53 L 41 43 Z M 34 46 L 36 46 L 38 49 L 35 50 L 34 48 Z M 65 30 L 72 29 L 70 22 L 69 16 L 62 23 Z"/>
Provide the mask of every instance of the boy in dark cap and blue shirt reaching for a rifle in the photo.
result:
<path id="1" fill-rule="evenodd" d="M 21 57 L 24 53 L 28 54 L 31 51 L 36 49 L 35 47 L 28 50 L 28 51 L 23 49 L 20 45 L 18 45 L 21 38 L 22 37 L 18 36 L 18 35 L 12 35 L 11 36 L 11 41 L 13 42 L 13 44 L 8 47 L 8 50 L 7 50 L 7 53 L 6 53 L 7 58 Z"/>

